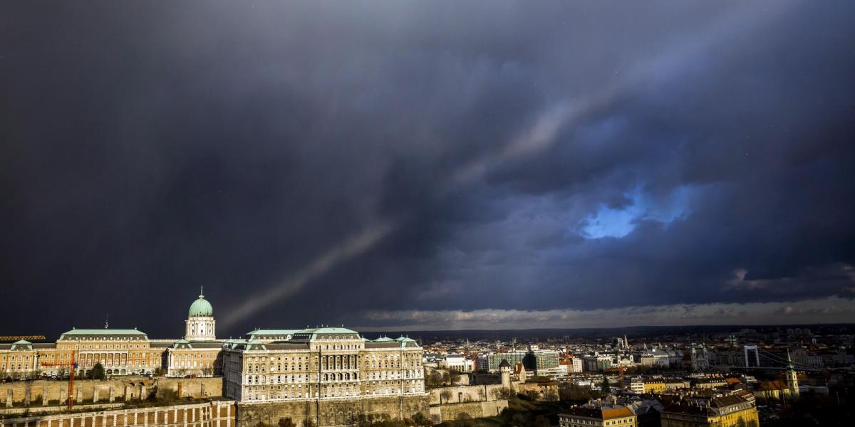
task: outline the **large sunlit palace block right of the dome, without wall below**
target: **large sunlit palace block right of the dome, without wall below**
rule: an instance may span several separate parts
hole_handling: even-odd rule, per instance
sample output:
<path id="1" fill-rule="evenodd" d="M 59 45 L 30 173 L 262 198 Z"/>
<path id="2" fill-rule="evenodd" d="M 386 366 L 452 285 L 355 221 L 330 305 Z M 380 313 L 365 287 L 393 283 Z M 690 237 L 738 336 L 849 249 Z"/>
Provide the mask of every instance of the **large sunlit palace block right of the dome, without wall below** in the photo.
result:
<path id="1" fill-rule="evenodd" d="M 368 341 L 345 328 L 298 330 L 282 342 L 227 342 L 223 378 L 237 401 L 424 394 L 415 340 Z"/>

